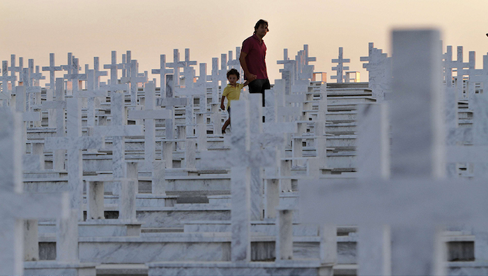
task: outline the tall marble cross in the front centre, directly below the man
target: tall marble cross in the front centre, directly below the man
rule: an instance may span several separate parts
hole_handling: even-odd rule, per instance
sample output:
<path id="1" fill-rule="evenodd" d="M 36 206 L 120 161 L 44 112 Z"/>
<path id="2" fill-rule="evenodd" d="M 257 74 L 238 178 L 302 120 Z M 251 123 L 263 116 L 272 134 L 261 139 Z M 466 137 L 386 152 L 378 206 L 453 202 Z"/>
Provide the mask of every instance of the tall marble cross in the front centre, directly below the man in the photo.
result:
<path id="1" fill-rule="evenodd" d="M 254 97 L 256 96 L 256 97 Z M 259 105 L 261 95 L 250 95 L 254 106 Z M 262 148 L 257 139 L 252 138 L 251 117 L 259 122 L 261 115 L 250 113 L 250 102 L 241 99 L 232 102 L 232 120 L 229 153 L 204 152 L 201 154 L 202 165 L 231 167 L 231 260 L 250 261 L 250 220 L 251 220 L 251 168 L 277 164 L 276 153 L 269 148 Z M 257 108 L 258 110 L 260 108 Z M 253 113 L 254 109 L 252 110 Z M 261 179 L 262 181 L 262 179 Z"/>

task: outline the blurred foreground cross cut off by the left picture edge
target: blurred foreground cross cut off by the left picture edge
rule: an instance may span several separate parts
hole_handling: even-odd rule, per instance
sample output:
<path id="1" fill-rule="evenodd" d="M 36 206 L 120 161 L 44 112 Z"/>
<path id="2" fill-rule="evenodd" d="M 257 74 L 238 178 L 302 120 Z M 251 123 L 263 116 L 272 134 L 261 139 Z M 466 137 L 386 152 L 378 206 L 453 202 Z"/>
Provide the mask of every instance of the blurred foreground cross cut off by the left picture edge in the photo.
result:
<path id="1" fill-rule="evenodd" d="M 22 193 L 20 115 L 0 108 L 0 116 L 0 275 L 23 275 L 22 220 L 66 218 L 68 195 Z"/>

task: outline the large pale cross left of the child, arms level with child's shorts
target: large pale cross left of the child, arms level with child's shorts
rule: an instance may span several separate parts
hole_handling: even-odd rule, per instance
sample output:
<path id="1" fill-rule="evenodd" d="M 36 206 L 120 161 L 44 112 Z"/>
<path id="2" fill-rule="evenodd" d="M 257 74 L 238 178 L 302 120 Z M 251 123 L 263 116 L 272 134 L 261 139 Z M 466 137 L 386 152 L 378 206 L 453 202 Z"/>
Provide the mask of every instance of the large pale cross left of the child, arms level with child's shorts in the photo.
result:
<path id="1" fill-rule="evenodd" d="M 156 109 L 155 84 L 150 81 L 144 86 L 144 110 L 129 111 L 129 119 L 144 119 L 144 170 L 152 170 L 156 149 L 155 120 L 171 120 L 173 112 L 169 109 Z"/>

